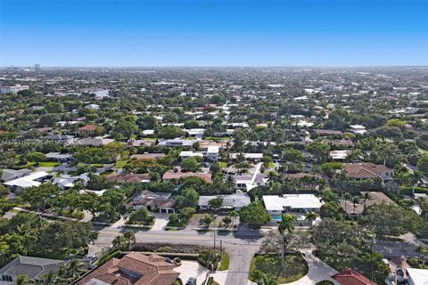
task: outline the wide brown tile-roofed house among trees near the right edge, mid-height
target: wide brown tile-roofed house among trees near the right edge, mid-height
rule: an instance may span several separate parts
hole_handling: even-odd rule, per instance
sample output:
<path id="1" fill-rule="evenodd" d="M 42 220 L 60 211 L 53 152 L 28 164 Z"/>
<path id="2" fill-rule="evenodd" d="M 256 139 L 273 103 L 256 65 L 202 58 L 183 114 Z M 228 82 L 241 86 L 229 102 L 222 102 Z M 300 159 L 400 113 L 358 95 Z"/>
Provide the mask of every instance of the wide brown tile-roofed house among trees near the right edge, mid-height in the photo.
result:
<path id="1" fill-rule="evenodd" d="M 383 165 L 375 165 L 371 162 L 366 163 L 345 163 L 343 170 L 346 175 L 358 180 L 373 179 L 380 177 L 382 180 L 392 180 L 393 170 Z"/>

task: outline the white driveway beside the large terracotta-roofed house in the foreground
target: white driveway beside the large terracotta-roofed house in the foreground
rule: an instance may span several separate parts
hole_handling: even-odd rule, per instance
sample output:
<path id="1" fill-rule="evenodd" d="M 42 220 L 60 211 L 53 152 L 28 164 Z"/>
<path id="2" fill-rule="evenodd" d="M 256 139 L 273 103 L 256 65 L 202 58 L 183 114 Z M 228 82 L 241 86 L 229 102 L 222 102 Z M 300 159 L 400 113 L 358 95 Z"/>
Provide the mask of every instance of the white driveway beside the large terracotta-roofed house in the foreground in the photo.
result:
<path id="1" fill-rule="evenodd" d="M 180 273 L 179 277 L 183 283 L 185 283 L 189 277 L 194 277 L 196 278 L 197 285 L 202 285 L 202 282 L 205 281 L 207 277 L 207 273 L 209 273 L 209 270 L 198 262 L 190 260 L 182 260 L 182 265 L 174 268 L 174 271 Z M 218 271 L 210 274 L 210 276 L 214 277 L 214 280 L 217 281 L 218 284 L 226 284 L 227 271 Z"/>

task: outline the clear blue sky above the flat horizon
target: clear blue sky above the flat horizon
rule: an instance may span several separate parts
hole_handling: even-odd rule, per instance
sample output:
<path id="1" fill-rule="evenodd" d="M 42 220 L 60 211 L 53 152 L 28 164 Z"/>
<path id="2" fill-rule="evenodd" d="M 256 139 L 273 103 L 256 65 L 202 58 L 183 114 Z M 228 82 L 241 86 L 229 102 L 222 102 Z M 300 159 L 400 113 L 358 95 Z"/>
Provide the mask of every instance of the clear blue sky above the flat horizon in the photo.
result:
<path id="1" fill-rule="evenodd" d="M 0 0 L 0 66 L 428 65 L 428 0 Z"/>

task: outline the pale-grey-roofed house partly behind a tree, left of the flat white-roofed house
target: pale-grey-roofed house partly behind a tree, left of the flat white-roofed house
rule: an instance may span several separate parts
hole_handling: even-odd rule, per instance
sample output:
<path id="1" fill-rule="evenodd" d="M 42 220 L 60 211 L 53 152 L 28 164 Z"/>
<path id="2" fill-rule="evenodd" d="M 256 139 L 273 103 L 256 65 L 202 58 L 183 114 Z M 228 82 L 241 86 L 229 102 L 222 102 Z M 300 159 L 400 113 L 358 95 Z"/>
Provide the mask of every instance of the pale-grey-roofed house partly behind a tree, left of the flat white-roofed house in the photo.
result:
<path id="1" fill-rule="evenodd" d="M 224 210 L 235 209 L 236 211 L 240 211 L 241 208 L 251 203 L 250 196 L 247 193 L 237 190 L 235 194 L 231 195 L 199 196 L 198 206 L 202 210 L 210 209 L 210 200 L 217 198 L 222 199 L 220 209 Z"/>

